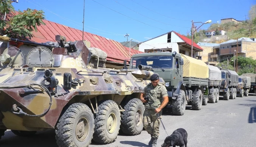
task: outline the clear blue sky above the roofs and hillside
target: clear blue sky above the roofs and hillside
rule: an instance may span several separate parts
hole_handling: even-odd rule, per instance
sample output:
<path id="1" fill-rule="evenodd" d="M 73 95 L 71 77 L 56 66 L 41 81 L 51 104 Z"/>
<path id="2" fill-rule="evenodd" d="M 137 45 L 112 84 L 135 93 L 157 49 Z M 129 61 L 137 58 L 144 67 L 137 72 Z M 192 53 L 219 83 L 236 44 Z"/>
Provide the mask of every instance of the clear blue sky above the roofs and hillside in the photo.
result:
<path id="1" fill-rule="evenodd" d="M 146 41 L 170 31 L 186 35 L 194 22 L 248 19 L 256 0 L 19 0 L 18 11 L 43 10 L 45 19 L 119 42 Z M 84 6 L 85 5 L 85 6 Z M 195 23 L 197 27 L 201 23 Z M 207 29 L 204 24 L 200 29 Z M 82 38 L 81 38 L 82 39 Z"/>

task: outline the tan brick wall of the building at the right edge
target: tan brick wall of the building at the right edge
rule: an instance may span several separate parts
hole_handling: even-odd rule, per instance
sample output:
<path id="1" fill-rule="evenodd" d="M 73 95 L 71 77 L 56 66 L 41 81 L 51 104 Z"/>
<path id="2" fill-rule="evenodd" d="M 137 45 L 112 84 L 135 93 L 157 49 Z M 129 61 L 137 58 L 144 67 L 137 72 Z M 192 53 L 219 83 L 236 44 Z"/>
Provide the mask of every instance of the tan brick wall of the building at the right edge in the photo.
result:
<path id="1" fill-rule="evenodd" d="M 256 59 L 256 42 L 242 41 L 242 52 L 246 54 L 246 57 Z"/>

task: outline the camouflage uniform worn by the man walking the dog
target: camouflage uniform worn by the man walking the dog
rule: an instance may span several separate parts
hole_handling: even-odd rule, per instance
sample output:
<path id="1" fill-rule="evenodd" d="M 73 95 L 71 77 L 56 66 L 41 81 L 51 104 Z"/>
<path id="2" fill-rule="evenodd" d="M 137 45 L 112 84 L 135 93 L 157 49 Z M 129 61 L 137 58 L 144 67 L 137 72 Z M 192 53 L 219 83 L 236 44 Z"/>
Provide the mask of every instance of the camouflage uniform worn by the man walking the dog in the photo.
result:
<path id="1" fill-rule="evenodd" d="M 163 97 L 168 96 L 167 89 L 161 83 L 158 83 L 156 87 L 154 87 L 151 83 L 148 84 L 144 88 L 143 94 L 145 95 L 145 98 L 149 96 L 147 102 L 150 103 L 152 107 L 155 107 L 155 109 L 160 107 L 163 101 Z M 158 113 L 160 116 L 159 118 L 158 114 L 155 112 L 155 109 L 152 108 L 147 102 L 145 103 L 143 126 L 152 138 L 158 138 L 162 110 Z"/>

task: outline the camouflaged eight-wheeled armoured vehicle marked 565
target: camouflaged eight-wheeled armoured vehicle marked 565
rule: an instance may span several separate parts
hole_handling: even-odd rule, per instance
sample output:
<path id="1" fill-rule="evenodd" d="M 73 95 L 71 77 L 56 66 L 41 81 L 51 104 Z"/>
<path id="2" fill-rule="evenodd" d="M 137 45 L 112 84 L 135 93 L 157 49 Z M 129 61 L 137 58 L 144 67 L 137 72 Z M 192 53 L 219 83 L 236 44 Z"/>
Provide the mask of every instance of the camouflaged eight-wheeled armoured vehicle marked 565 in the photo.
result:
<path id="1" fill-rule="evenodd" d="M 153 72 L 104 68 L 104 52 L 60 35 L 47 43 L 0 40 L 29 44 L 0 51 L 0 137 L 6 129 L 20 136 L 55 129 L 59 147 L 87 147 L 92 139 L 114 142 L 120 128 L 142 131 L 139 95 Z"/>

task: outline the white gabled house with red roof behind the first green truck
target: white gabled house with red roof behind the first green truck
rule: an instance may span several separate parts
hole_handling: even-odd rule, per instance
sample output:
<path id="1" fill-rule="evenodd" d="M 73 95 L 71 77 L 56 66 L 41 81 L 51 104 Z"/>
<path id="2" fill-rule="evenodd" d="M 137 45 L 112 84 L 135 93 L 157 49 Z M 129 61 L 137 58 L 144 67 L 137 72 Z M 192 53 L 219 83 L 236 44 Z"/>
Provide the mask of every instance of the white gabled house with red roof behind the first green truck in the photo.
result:
<path id="1" fill-rule="evenodd" d="M 192 40 L 175 31 L 171 31 L 150 40 L 139 43 L 140 52 L 151 51 L 176 51 L 191 57 Z M 193 55 L 195 58 L 201 59 L 200 52 L 203 49 L 195 42 L 193 43 Z"/>

